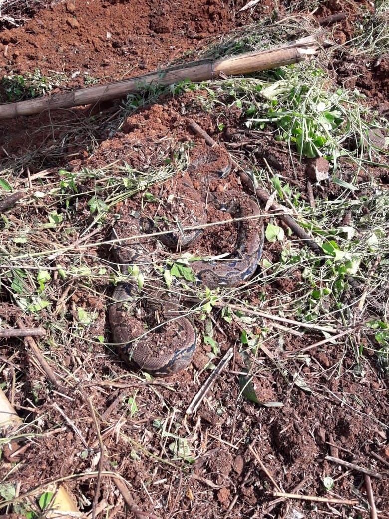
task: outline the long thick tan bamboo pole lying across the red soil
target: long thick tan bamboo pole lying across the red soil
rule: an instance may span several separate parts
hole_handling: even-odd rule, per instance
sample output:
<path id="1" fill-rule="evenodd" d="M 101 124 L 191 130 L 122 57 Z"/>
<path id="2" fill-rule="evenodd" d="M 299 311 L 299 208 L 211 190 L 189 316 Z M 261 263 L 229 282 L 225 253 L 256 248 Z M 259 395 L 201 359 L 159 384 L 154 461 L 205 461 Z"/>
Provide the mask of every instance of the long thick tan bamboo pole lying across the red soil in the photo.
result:
<path id="1" fill-rule="evenodd" d="M 143 76 L 115 81 L 115 83 L 108 83 L 107 85 L 53 94 L 40 99 L 3 104 L 0 105 L 0 119 L 12 119 L 23 115 L 39 114 L 55 108 L 70 108 L 117 99 L 130 93 L 142 91 L 145 88 L 168 86 L 186 79 L 194 82 L 205 81 L 224 75 L 241 75 L 274 69 L 307 59 L 317 52 L 317 47 L 316 39 L 309 36 L 270 50 L 240 54 L 219 61 L 211 59 L 193 61 L 150 72 Z"/>

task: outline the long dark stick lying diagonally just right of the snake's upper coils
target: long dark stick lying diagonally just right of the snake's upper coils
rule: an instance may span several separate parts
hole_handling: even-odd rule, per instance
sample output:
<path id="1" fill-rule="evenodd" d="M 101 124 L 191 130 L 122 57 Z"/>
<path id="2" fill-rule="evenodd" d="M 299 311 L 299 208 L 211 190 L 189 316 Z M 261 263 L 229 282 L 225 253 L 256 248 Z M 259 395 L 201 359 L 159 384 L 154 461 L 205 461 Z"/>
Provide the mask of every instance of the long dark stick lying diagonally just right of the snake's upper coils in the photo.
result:
<path id="1" fill-rule="evenodd" d="M 197 122 L 191 121 L 189 124 L 189 128 L 200 135 L 203 139 L 205 139 L 205 142 L 210 146 L 216 146 L 218 143 L 212 139 L 212 137 L 207 134 L 198 124 Z M 249 175 L 243 171 L 239 164 L 235 161 L 233 161 L 235 166 L 238 166 L 239 168 L 239 175 L 241 177 L 242 182 L 260 199 L 262 202 L 268 203 L 270 196 L 264 189 L 261 189 L 260 187 L 255 188 L 254 183 L 252 179 L 249 177 Z M 279 204 L 272 202 L 269 209 L 272 211 L 280 211 L 282 214 L 279 215 L 281 220 L 290 227 L 291 230 L 299 237 L 301 240 L 304 240 L 305 243 L 307 243 L 308 247 L 310 247 L 315 254 L 323 254 L 322 248 L 311 238 L 311 236 L 305 231 L 297 222 L 295 222 L 294 218 L 289 216 L 285 213 L 285 208 L 282 206 L 279 206 Z"/>

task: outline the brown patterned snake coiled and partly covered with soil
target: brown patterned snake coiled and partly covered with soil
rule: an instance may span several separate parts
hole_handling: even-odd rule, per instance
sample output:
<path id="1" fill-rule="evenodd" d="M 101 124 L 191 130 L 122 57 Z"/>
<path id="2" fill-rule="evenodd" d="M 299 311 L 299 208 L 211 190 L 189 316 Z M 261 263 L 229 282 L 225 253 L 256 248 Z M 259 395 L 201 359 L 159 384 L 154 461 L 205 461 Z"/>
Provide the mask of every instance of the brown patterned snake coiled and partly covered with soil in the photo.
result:
<path id="1" fill-rule="evenodd" d="M 226 152 L 227 153 L 227 152 Z M 223 169 L 213 173 L 218 178 L 225 177 L 231 170 L 231 159 Z M 203 187 L 209 185 L 211 176 L 201 175 L 201 170 L 212 163 L 211 154 L 193 160 L 188 173 L 197 172 L 202 178 Z M 200 174 L 199 174 L 200 173 Z M 193 197 L 198 193 L 189 178 L 188 189 L 193 190 Z M 204 189 L 203 189 L 204 192 Z M 236 200 L 230 203 L 229 212 L 239 220 L 238 238 L 234 252 L 223 261 L 197 260 L 191 263 L 195 284 L 211 290 L 240 286 L 251 278 L 258 266 L 263 247 L 263 221 L 261 211 L 255 200 L 235 194 Z M 227 193 L 227 198 L 232 195 Z M 218 198 L 222 198 L 218 196 Z M 203 212 L 199 217 L 200 226 L 206 223 L 204 197 Z M 171 225 L 171 227 L 173 227 Z M 152 376 L 168 376 L 184 370 L 190 363 L 197 346 L 197 331 L 185 309 L 162 282 L 154 281 L 152 252 L 156 247 L 156 238 L 144 233 L 160 231 L 149 217 L 130 215 L 126 235 L 134 236 L 126 247 L 114 245 L 115 262 L 121 274 L 128 276 L 119 282 L 112 294 L 108 320 L 114 343 L 120 357 L 127 364 L 136 364 L 138 368 Z M 169 249 L 186 248 L 203 234 L 203 229 L 164 231 L 158 236 L 159 241 Z M 139 236 L 141 235 L 141 238 Z M 142 236 L 143 235 L 143 236 Z M 134 268 L 136 266 L 136 268 Z M 147 291 L 139 286 L 134 272 L 141 272 L 142 277 L 152 279 Z M 145 327 L 145 324 L 146 327 Z M 148 332 L 152 334 L 149 338 Z"/>

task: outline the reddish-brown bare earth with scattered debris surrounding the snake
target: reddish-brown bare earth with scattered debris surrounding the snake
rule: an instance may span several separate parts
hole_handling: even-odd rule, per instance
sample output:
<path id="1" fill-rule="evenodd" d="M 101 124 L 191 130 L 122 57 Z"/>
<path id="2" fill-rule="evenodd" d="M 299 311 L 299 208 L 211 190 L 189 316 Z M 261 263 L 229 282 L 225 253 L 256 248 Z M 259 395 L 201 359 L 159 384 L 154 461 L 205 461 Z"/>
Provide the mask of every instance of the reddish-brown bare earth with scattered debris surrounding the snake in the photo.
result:
<path id="1" fill-rule="evenodd" d="M 65 74 L 66 88 L 85 88 L 88 75 L 102 78 L 102 82 L 140 75 L 174 63 L 187 51 L 193 53 L 190 60 L 195 60 L 201 50 L 220 35 L 272 15 L 275 4 L 267 0 L 260 2 L 254 11 L 239 13 L 244 5 L 240 0 L 235 4 L 219 0 L 53 3 L 26 16 L 30 19 L 20 28 L 3 25 L 0 67 L 2 74 L 11 71 L 23 74 L 39 67 L 43 74 L 53 71 Z M 325 4 L 328 7 L 319 7 L 312 20 L 334 14 L 341 9 L 338 4 L 344 4 L 343 12 L 348 12 L 348 17 L 337 24 L 332 34 L 332 38 L 342 44 L 352 37 L 355 26 L 352 3 Z M 368 2 L 359 4 L 370 9 Z M 282 15 L 281 9 L 278 16 Z M 331 66 L 339 85 L 358 88 L 366 94 L 366 102 L 387 117 L 387 56 L 376 70 L 358 57 Z M 70 172 L 108 168 L 113 181 L 120 182 L 122 171 L 117 166 L 130 163 L 144 171 L 163 165 L 166 158 L 174 162 L 182 146 L 190 143 L 205 146 L 188 127 L 190 121 L 196 121 L 216 141 L 225 143 L 231 153 L 238 154 L 243 166 L 253 155 L 260 164 L 266 159 L 276 171 L 290 176 L 290 183 L 300 189 L 302 197 L 308 197 L 304 163 L 296 162 L 295 170 L 291 169 L 288 151 L 273 141 L 270 132 L 262 135 L 245 132 L 238 108 L 220 106 L 206 111 L 199 100 L 206 96 L 205 90 L 173 97 L 166 95 L 122 120 L 115 135 L 111 132 L 120 120 L 119 101 L 0 121 L 2 169 L 24 157 L 20 185 L 24 186 L 24 179 L 32 177 L 32 191 L 39 189 L 48 193 L 45 200 L 50 205 L 50 201 L 58 201 L 58 198 L 50 198 L 49 188 L 50 183 L 58 182 L 61 168 Z M 34 178 L 34 174 L 46 169 L 49 173 Z M 361 173 L 359 180 L 364 180 L 365 174 Z M 383 163 L 371 168 L 370 174 L 383 185 L 389 181 L 387 165 Z M 243 189 L 234 171 L 222 185 L 226 189 Z M 158 198 L 164 189 L 164 196 L 168 197 L 169 189 L 173 188 L 169 182 L 163 186 L 154 186 L 149 193 Z M 71 201 L 70 210 L 74 210 L 72 214 L 76 216 L 74 233 L 68 236 L 68 243 L 75 244 L 75 252 L 78 243 L 82 243 L 82 240 L 78 242 L 82 238 L 80 230 L 88 229 L 93 222 L 88 210 L 88 193 L 98 187 L 94 179 L 86 179 L 78 185 L 78 194 Z M 173 190 L 182 192 L 184 189 L 177 177 Z M 327 184 L 314 195 L 336 197 L 338 189 L 335 184 Z M 23 206 L 7 212 L 8 218 L 20 218 L 28 204 L 25 199 Z M 85 266 L 107 267 L 110 252 L 103 242 L 110 237 L 114 215 L 120 214 L 125 222 L 128 211 L 139 204 L 142 204 L 141 195 L 126 203 L 117 202 L 110 217 L 89 239 L 92 245 L 84 251 Z M 33 222 L 39 227 L 47 222 L 46 206 L 36 207 Z M 66 214 L 68 208 L 63 204 L 57 210 Z M 220 215 L 215 211 L 208 215 L 209 221 L 220 217 L 225 217 L 225 213 Z M 48 230 L 41 239 L 54 243 L 56 232 Z M 235 240 L 233 225 L 210 227 L 190 250 L 199 255 L 220 254 L 231 251 Z M 266 242 L 263 258 L 277 261 L 280 252 L 279 243 Z M 70 268 L 75 257 L 72 251 L 65 255 L 62 266 Z M 62 260 L 55 258 L 52 266 L 55 267 L 56 262 L 61 264 Z M 281 298 L 286 315 L 301 276 L 297 264 L 292 273 L 280 274 L 276 282 L 265 285 L 260 281 L 259 270 L 254 282 L 238 293 L 232 303 L 239 305 L 248 300 L 252 307 L 272 313 L 272 302 L 279 302 Z M 40 343 L 40 348 L 61 387 L 55 388 L 49 383 L 24 343 L 2 339 L 2 387 L 29 424 L 24 432 L 34 433 L 34 439 L 20 440 L 19 447 L 24 444 L 28 447 L 17 459 L 4 449 L 0 480 L 6 477 L 7 482 L 21 482 L 22 494 L 38 483 L 73 474 L 75 476 L 64 485 L 75 497 L 80 510 L 85 513 L 92 510 L 97 491 L 95 504 L 101 504 L 99 517 L 132 516 L 131 513 L 126 515 L 123 499 L 111 476 L 104 475 L 98 487 L 96 476 L 85 475 L 103 468 L 98 456 L 103 446 L 105 470 L 117 471 L 126 480 L 135 507 L 154 516 L 182 519 L 369 517 L 361 504 L 366 502 L 364 474 L 325 459 L 332 455 L 379 473 L 381 477 L 371 477 L 372 494 L 379 517 L 389 517 L 388 384 L 369 348 L 364 349 L 362 365 L 358 367 L 363 376 L 360 372 L 356 376 L 355 356 L 346 336 L 304 352 L 300 350 L 324 338 L 320 331 L 304 330 L 303 336 L 290 334 L 277 328 L 275 321 L 252 316 L 249 322 L 234 319 L 229 323 L 222 309 L 215 308 L 212 320 L 208 317 L 202 320 L 200 315 L 195 317 L 200 341 L 189 368 L 168 379 L 148 382 L 145 376 L 129 371 L 114 348 L 105 345 L 111 340 L 106 309 L 112 284 L 107 277 L 91 279 L 92 285 L 73 285 L 60 276 L 55 278 L 51 297 L 53 307 L 58 310 L 55 319 L 63 335 L 58 334 L 52 313 L 43 310 L 34 316 L 23 315 L 12 304 L 9 292 L 2 289 L 2 323 L 13 326 L 23 316 L 26 325 L 48 327 L 48 337 Z M 357 289 L 350 289 L 350 298 L 354 296 L 353 290 Z M 381 296 L 384 305 L 387 293 Z M 266 308 L 262 304 L 265 300 Z M 93 322 L 85 328 L 79 324 L 80 309 L 94 316 Z M 220 348 L 212 362 L 217 365 L 230 348 L 234 356 L 197 413 L 186 416 L 187 406 L 211 373 L 203 368 L 210 360 L 212 345 L 205 344 L 202 338 L 210 335 L 210 325 L 213 339 Z M 238 376 L 245 364 L 240 355 L 240 339 L 247 326 L 254 327 L 266 345 L 257 351 L 256 365 L 261 367 L 254 373 L 253 383 L 258 399 L 265 403 L 280 402 L 283 404 L 280 407 L 254 404 L 241 395 Z M 269 335 L 271 340 L 267 338 Z M 81 349 L 80 337 L 85 336 L 89 348 L 86 349 L 87 343 L 83 342 Z M 103 342 L 97 339 L 99 336 L 104 337 Z M 65 337 L 63 341 L 61 337 Z M 357 339 L 359 345 L 366 345 L 370 340 L 364 332 L 360 332 Z M 309 389 L 290 384 L 286 372 L 298 374 Z M 135 399 L 136 411 L 131 399 Z M 11 471 L 15 462 L 20 465 Z M 325 476 L 336 480 L 332 492 L 323 486 Z M 277 500 L 273 496 L 276 489 L 356 499 L 359 504 L 353 508 Z M 1 511 L 6 513 L 5 508 Z"/>

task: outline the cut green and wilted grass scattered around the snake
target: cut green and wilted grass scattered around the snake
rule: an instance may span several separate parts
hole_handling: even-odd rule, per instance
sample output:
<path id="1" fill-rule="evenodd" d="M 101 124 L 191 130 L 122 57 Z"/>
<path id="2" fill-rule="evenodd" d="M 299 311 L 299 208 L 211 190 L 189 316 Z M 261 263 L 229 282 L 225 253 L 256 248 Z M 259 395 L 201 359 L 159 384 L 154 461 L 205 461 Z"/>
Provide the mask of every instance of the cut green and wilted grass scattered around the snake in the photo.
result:
<path id="1" fill-rule="evenodd" d="M 340 397 L 321 385 L 323 377 L 341 378 L 349 370 L 357 381 L 362 380 L 369 359 L 365 353 L 370 354 L 370 351 L 376 352 L 382 370 L 387 372 L 389 199 L 373 177 L 369 181 L 357 182 L 359 170 L 369 174 L 375 171 L 378 161 L 387 160 L 380 150 L 374 152 L 377 155 L 369 156 L 368 144 L 359 145 L 359 142 L 364 143 L 363 135 L 370 127 L 384 126 L 384 121 L 374 122 L 371 114 L 360 106 L 358 101 L 361 98 L 357 94 L 343 89 L 339 93 L 315 63 L 290 67 L 282 72 L 282 77 L 277 74 L 261 74 L 261 79 L 218 82 L 209 90 L 207 108 L 234 104 L 245 116 L 247 134 L 254 135 L 253 129 L 259 126 L 269 133 L 273 131 L 286 142 L 296 169 L 299 168 L 298 161 L 303 161 L 305 156 L 313 152 L 323 154 L 334 161 L 337 174 L 351 175 L 346 180 L 350 187 L 357 189 L 337 186 L 335 194 L 317 196 L 313 210 L 301 198 L 299 186 L 288 183 L 285 176 L 274 174 L 269 168 L 262 168 L 249 151 L 243 158 L 242 153 L 236 154 L 235 161 L 253 170 L 261 187 L 279 197 L 280 203 L 293 208 L 299 222 L 310 229 L 323 245 L 323 255 L 317 257 L 302 247 L 298 240 L 288 235 L 288 229 L 281 227 L 274 215 L 269 215 L 269 222 L 284 233 L 273 233 L 278 249 L 272 256 L 265 254 L 260 276 L 239 289 L 208 292 L 204 297 L 197 289 L 189 290 L 191 296 L 200 296 L 201 301 L 191 311 L 198 312 L 198 316 L 205 320 L 203 340 L 212 347 L 206 370 L 212 371 L 213 355 L 219 346 L 213 339 L 215 327 L 219 324 L 212 321 L 209 312 L 213 306 L 223 307 L 221 318 L 228 325 L 232 323 L 234 331 L 240 331 L 240 336 L 238 334 L 235 339 L 237 347 L 247 353 L 250 373 L 259 379 L 273 370 L 278 371 L 280 379 L 289 388 L 285 404 L 292 388 L 297 386 L 311 399 L 325 399 L 333 405 L 333 401 Z M 187 88 L 198 87 L 190 85 Z M 204 88 L 204 85 L 199 88 Z M 128 116 L 147 104 L 148 99 L 128 99 L 123 113 Z M 322 107 L 320 110 L 318 105 Z M 45 348 L 47 358 L 55 365 L 62 383 L 71 390 L 81 380 L 85 387 L 94 384 L 102 393 L 109 388 L 135 383 L 142 391 L 144 386 L 139 383 L 149 380 L 147 376 L 131 372 L 117 375 L 113 356 L 101 346 L 108 339 L 108 335 L 102 335 L 102 326 L 105 325 L 103 304 L 109 304 L 106 293 L 109 294 L 109 287 L 114 282 L 124 278 L 102 260 L 101 256 L 105 254 L 100 253 L 99 247 L 107 244 L 107 231 L 120 217 L 117 204 L 139 189 L 147 190 L 152 183 L 163 182 L 174 173 L 177 165 L 177 169 L 184 168 L 187 149 L 178 149 L 174 165 L 168 159 L 166 148 L 158 155 L 164 165 L 146 168 L 142 172 L 129 166 L 109 164 L 100 169 L 53 172 L 50 182 L 45 182 L 45 177 L 37 177 L 33 181 L 31 198 L 26 197 L 20 202 L 22 210 L 16 208 L 11 214 L 2 215 L 2 297 L 18 306 L 21 316 L 48 326 L 50 337 L 41 342 L 41 347 Z M 17 168 L 3 171 L 0 176 L 3 188 L 23 181 Z M 288 292 L 285 288 L 290 280 L 294 285 Z M 146 279 L 146 288 L 148 281 Z M 100 310 L 99 305 L 89 304 L 89 298 L 100 301 Z M 237 306 L 241 310 L 237 310 Z M 245 309 L 255 312 L 258 306 L 269 315 L 265 321 L 249 311 L 245 312 Z M 283 327 L 275 327 L 272 316 L 285 319 Z M 223 321 L 221 324 L 223 329 Z M 318 337 L 311 336 L 304 324 L 316 326 L 314 331 Z M 312 345 L 323 337 L 330 339 L 325 331 L 328 327 L 340 332 L 350 330 L 350 333 L 341 342 L 341 352 L 336 361 L 325 369 L 310 371 L 308 368 L 316 359 L 310 350 L 300 353 L 299 345 L 284 351 L 285 340 L 289 340 L 289 346 L 292 343 L 292 332 L 302 333 L 303 340 Z M 76 359 L 74 372 L 67 367 L 67 357 Z M 352 365 L 345 366 L 344 358 L 350 357 L 354 358 Z M 4 361 L 2 370 L 7 369 L 11 362 L 12 359 Z M 22 369 L 22 366 L 17 366 L 17 378 Z M 196 370 L 194 376 L 198 377 Z M 231 379 L 228 384 L 231 384 Z M 150 476 L 142 484 L 150 501 L 162 508 L 162 485 L 168 474 L 167 467 L 171 469 L 169 477 L 174 482 L 174 477 L 187 473 L 186 462 L 192 462 L 197 456 L 200 458 L 203 449 L 207 448 L 203 447 L 203 442 L 208 439 L 207 436 L 206 441 L 202 438 L 200 426 L 191 428 L 187 425 L 181 411 L 177 412 L 164 400 L 157 385 L 147 386 L 143 399 L 137 392 L 138 387 L 136 400 L 134 396 L 132 401 L 123 398 L 117 403 L 122 416 L 115 425 L 116 442 L 120 440 L 121 446 L 127 447 L 120 463 L 124 466 L 127 457 L 131 462 L 141 460 L 145 465 L 149 463 Z M 13 388 L 21 393 L 25 391 L 18 380 Z M 231 387 L 228 389 L 225 400 L 216 397 L 214 401 L 210 400 L 209 405 L 213 406 L 215 415 L 233 416 L 235 424 L 238 406 L 230 396 Z M 170 390 L 174 391 L 173 388 Z M 49 394 L 49 388 L 41 378 L 31 381 L 29 391 L 34 406 L 39 406 L 44 400 L 50 401 L 53 394 Z M 54 398 L 57 398 L 57 393 L 54 393 Z M 240 398 L 242 395 L 237 400 Z M 356 396 L 355 401 L 349 394 L 342 394 L 342 398 L 342 405 L 348 407 L 349 413 L 366 417 Z M 147 420 L 139 418 L 142 403 L 147 409 L 154 406 L 154 416 L 161 416 L 151 426 Z M 89 427 L 88 411 L 80 410 L 80 413 L 84 414 L 77 417 L 82 416 L 80 421 Z M 256 421 L 259 421 L 258 417 L 259 413 Z M 55 416 L 41 418 L 33 424 L 37 439 L 47 424 L 54 428 L 55 420 L 60 421 Z M 376 420 L 374 416 L 371 419 Z M 104 420 L 102 416 L 105 426 Z M 101 429 L 104 434 L 103 425 Z M 240 438 L 238 444 L 247 443 L 248 429 L 249 426 L 245 429 L 247 436 Z M 152 444 L 155 436 L 159 450 Z M 18 433 L 15 433 L 7 440 L 18 438 Z M 197 454 L 192 456 L 192 451 Z M 82 456 L 88 461 L 91 453 L 87 449 L 77 453 L 77 457 Z M 92 465 L 92 460 L 90 463 Z M 116 463 L 115 458 L 112 458 L 112 463 Z M 87 467 L 89 470 L 89 465 Z M 6 479 L 11 480 L 17 470 L 18 466 L 13 467 Z M 84 472 L 64 479 L 82 476 Z M 185 479 L 184 484 L 188 485 L 189 492 L 190 486 Z M 81 496 L 84 499 L 82 493 Z M 9 504 L 12 499 L 6 502 Z M 87 498 L 84 504 L 89 506 Z"/>

